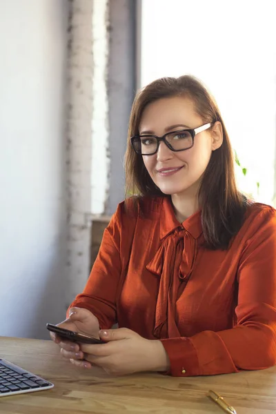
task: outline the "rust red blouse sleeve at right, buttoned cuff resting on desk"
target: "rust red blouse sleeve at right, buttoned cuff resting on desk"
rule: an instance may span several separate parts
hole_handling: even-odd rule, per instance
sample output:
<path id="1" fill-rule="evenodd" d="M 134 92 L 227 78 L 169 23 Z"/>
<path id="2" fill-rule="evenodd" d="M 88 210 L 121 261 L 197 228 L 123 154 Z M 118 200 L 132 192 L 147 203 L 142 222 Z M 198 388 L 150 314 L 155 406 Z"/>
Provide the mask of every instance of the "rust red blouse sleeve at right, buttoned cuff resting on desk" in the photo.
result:
<path id="1" fill-rule="evenodd" d="M 162 339 L 170 375 L 214 375 L 276 364 L 276 215 L 267 208 L 239 260 L 237 325 Z"/>

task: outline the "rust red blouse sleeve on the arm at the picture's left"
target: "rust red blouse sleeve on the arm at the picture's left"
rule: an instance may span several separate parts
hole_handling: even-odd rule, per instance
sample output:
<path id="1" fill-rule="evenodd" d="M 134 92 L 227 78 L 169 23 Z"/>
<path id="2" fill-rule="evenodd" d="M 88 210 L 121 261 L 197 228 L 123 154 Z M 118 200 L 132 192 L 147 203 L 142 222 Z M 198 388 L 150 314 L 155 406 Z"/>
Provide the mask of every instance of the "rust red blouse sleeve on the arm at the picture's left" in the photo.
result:
<path id="1" fill-rule="evenodd" d="M 77 295 L 68 308 L 68 311 L 73 306 L 88 309 L 98 318 L 102 329 L 110 328 L 117 319 L 115 297 L 121 275 L 120 243 L 121 205 L 103 232 L 99 253 L 83 293 Z"/>

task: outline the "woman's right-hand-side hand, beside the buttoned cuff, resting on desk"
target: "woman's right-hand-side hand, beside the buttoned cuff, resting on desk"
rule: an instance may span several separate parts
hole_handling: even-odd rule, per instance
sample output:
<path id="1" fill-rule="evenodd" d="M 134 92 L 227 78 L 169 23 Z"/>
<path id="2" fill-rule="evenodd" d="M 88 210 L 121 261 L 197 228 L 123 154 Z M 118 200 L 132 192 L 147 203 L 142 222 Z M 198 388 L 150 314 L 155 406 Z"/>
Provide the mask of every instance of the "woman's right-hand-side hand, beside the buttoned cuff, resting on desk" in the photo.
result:
<path id="1" fill-rule="evenodd" d="M 170 368 L 168 355 L 158 340 L 145 339 L 127 328 L 109 329 L 99 334 L 106 344 L 80 344 L 86 361 L 73 359 L 72 364 L 85 366 L 89 362 L 114 375 Z"/>

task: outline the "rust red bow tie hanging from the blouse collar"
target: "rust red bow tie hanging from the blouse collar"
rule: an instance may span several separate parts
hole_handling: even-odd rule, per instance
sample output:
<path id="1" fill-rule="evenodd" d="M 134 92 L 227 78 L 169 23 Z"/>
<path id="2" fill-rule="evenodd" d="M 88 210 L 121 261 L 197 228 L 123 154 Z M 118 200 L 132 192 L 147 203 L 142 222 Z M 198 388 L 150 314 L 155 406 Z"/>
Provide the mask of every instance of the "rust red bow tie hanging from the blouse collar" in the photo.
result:
<path id="1" fill-rule="evenodd" d="M 161 242 L 146 268 L 160 278 L 153 335 L 159 339 L 180 337 L 175 322 L 176 302 L 193 271 L 197 239 L 182 227 Z"/>

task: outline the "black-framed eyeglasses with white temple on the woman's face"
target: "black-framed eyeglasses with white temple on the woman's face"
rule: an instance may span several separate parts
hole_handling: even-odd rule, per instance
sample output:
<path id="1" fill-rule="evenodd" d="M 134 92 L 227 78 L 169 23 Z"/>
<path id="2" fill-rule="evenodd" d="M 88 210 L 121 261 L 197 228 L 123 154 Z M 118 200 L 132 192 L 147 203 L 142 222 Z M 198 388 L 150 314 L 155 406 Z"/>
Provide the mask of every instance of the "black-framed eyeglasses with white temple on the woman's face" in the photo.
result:
<path id="1" fill-rule="evenodd" d="M 195 135 L 210 128 L 210 122 L 195 129 L 183 129 L 167 132 L 163 137 L 157 135 L 135 135 L 130 138 L 132 147 L 139 155 L 154 155 L 161 141 L 172 151 L 185 151 L 193 147 Z"/>

